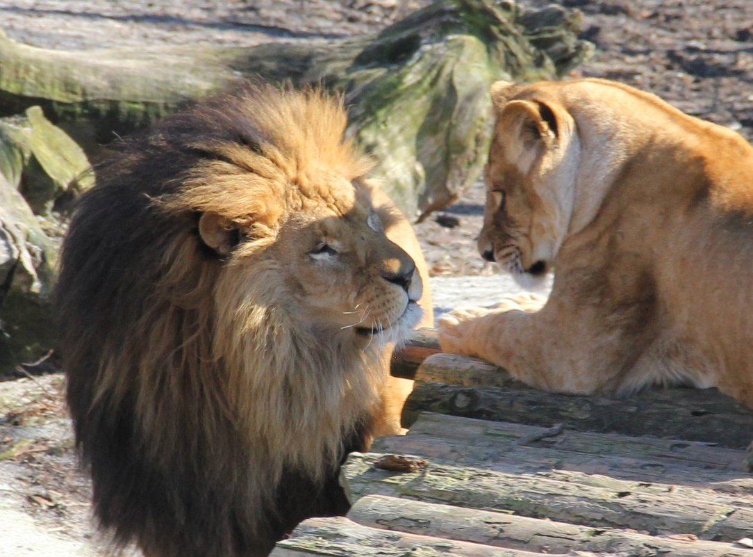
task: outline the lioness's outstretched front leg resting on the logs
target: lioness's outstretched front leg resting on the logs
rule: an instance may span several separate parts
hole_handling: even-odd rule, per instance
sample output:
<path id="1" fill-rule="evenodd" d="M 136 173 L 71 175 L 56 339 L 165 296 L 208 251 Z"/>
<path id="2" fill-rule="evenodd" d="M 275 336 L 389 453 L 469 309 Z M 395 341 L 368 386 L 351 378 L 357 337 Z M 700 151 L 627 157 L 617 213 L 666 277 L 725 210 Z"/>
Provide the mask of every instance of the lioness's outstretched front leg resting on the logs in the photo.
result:
<path id="1" fill-rule="evenodd" d="M 614 353 L 620 331 L 587 325 L 598 320 L 562 319 L 578 312 L 542 305 L 541 298 L 516 296 L 493 308 L 453 310 L 439 320 L 442 349 L 483 358 L 536 388 L 584 394 L 608 388 L 623 357 Z"/>

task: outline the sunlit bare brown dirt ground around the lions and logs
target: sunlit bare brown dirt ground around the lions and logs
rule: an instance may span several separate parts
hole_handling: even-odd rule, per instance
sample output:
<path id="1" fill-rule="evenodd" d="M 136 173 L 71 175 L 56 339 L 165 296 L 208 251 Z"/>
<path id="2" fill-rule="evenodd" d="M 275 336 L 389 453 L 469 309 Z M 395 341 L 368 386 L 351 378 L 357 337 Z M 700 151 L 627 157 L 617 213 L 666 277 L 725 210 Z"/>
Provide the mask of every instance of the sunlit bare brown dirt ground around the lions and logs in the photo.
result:
<path id="1" fill-rule="evenodd" d="M 41 47 L 248 45 L 380 29 L 426 0 L 0 0 L 0 29 Z M 529 0 L 529 5 L 544 2 Z M 560 0 L 596 55 L 572 76 L 616 79 L 753 138 L 753 2 Z M 416 226 L 435 275 L 492 274 L 475 249 L 483 185 Z M 0 555 L 97 555 L 59 374 L 0 382 Z"/>

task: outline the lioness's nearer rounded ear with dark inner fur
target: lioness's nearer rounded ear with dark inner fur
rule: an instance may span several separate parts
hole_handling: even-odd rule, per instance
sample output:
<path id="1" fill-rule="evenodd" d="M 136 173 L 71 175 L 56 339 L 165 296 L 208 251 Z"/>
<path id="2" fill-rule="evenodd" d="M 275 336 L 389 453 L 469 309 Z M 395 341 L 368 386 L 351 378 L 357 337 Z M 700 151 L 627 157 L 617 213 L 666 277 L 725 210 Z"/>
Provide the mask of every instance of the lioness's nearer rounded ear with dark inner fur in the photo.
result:
<path id="1" fill-rule="evenodd" d="M 535 100 L 511 100 L 498 117 L 508 158 L 527 173 L 559 135 L 556 111 Z"/>

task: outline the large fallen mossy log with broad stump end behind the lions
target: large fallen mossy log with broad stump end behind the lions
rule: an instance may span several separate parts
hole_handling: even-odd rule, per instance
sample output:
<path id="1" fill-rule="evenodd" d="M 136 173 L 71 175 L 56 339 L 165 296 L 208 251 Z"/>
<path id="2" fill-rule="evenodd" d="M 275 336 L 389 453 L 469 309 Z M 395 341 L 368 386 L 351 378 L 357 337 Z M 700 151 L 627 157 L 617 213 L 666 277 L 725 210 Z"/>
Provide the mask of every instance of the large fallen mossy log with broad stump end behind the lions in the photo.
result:
<path id="1" fill-rule="evenodd" d="M 489 84 L 555 78 L 590 54 L 578 16 L 556 5 L 437 0 L 377 35 L 256 47 L 52 51 L 0 35 L 0 115 L 32 104 L 96 145 L 181 102 L 261 76 L 345 93 L 350 133 L 408 215 L 447 204 L 476 179 L 489 142 Z"/>

